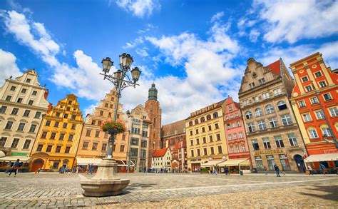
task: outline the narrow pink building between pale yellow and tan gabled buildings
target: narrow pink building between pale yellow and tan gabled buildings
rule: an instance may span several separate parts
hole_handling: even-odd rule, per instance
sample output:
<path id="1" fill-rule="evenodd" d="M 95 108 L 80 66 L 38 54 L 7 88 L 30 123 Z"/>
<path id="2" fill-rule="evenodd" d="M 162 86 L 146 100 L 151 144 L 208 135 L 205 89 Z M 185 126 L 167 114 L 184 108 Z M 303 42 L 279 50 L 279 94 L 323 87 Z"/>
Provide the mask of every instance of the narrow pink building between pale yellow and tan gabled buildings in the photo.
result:
<path id="1" fill-rule="evenodd" d="M 224 105 L 224 126 L 229 158 L 250 158 L 244 123 L 240 113 L 240 103 L 233 101 L 228 96 Z"/>

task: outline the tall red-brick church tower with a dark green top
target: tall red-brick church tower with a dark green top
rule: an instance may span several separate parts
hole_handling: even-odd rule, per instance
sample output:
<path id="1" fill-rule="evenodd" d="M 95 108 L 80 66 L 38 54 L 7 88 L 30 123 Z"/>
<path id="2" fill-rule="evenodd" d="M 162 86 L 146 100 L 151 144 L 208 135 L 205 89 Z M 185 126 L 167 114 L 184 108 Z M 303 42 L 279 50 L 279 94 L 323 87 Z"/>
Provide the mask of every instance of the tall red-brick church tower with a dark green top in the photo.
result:
<path id="1" fill-rule="evenodd" d="M 151 88 L 149 88 L 148 101 L 145 102 L 145 111 L 147 111 L 151 121 L 148 146 L 148 168 L 151 168 L 151 158 L 153 157 L 153 153 L 155 150 L 161 148 L 160 128 L 162 110 L 160 109 L 160 103 L 158 102 L 158 90 L 155 88 L 155 83 L 151 84 Z"/>

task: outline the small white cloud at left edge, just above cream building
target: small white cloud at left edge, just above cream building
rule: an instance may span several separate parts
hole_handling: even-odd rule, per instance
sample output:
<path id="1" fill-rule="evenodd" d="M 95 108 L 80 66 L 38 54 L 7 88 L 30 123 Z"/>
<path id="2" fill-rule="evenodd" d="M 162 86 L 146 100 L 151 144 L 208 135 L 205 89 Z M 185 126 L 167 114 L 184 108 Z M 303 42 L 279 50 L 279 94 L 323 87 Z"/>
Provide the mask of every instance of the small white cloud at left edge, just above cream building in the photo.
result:
<path id="1" fill-rule="evenodd" d="M 13 53 L 0 49 L 0 86 L 4 84 L 5 79 L 13 76 L 21 76 L 21 72 L 16 66 L 16 57 Z"/>

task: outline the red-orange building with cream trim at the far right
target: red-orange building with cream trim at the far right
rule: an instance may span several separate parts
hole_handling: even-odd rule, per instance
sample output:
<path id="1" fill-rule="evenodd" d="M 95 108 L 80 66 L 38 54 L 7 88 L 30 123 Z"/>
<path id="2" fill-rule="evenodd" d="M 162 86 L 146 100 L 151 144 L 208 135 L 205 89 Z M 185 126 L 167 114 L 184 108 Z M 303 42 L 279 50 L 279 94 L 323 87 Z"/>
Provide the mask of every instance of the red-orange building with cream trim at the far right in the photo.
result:
<path id="1" fill-rule="evenodd" d="M 326 168 L 338 167 L 334 144 L 338 129 L 338 75 L 325 65 L 319 52 L 291 63 L 290 68 L 296 80 L 292 108 L 309 154 L 304 161 L 314 168 L 319 168 L 319 163 Z"/>

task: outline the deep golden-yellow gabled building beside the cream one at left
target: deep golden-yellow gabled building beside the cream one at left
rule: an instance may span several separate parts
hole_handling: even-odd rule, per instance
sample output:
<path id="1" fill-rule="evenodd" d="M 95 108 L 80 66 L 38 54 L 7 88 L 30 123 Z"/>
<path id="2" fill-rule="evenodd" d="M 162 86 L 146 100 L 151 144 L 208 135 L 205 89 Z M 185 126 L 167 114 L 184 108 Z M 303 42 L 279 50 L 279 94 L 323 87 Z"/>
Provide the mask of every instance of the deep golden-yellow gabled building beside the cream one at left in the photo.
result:
<path id="1" fill-rule="evenodd" d="M 31 171 L 73 167 L 83 126 L 76 98 L 68 94 L 43 116 L 31 151 Z"/>

